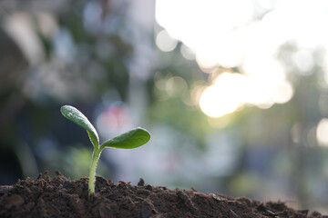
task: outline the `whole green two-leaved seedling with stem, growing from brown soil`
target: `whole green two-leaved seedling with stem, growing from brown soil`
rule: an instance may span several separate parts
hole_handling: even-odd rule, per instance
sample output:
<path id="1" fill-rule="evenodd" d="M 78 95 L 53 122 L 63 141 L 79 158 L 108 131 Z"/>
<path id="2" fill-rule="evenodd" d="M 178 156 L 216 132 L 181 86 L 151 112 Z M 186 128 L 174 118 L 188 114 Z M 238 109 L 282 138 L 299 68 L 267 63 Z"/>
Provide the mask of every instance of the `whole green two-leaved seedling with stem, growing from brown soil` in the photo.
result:
<path id="1" fill-rule="evenodd" d="M 95 193 L 97 161 L 104 148 L 113 147 L 121 149 L 132 149 L 146 144 L 150 139 L 149 132 L 143 128 L 138 127 L 128 131 L 125 134 L 120 134 L 117 137 L 109 139 L 103 144 L 99 144 L 99 137 L 95 127 L 87 120 L 87 117 L 84 114 L 77 110 L 77 108 L 70 105 L 64 105 L 60 108 L 60 111 L 65 117 L 67 117 L 67 119 L 86 129 L 90 141 L 94 145 L 90 171 L 88 174 L 89 196 L 90 193 Z"/>

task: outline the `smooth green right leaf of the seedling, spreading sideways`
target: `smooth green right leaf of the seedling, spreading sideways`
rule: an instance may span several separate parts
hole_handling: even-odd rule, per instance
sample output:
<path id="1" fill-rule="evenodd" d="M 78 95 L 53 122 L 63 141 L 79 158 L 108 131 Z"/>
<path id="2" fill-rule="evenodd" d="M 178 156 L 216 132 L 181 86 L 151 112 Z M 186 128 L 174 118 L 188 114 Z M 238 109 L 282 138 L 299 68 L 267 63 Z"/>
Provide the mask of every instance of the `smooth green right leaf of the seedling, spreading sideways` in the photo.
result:
<path id="1" fill-rule="evenodd" d="M 149 139 L 149 132 L 143 128 L 138 127 L 136 129 L 128 131 L 128 133 L 120 134 L 117 137 L 109 139 L 101 145 L 101 148 L 113 147 L 121 149 L 131 149 L 146 144 Z"/>

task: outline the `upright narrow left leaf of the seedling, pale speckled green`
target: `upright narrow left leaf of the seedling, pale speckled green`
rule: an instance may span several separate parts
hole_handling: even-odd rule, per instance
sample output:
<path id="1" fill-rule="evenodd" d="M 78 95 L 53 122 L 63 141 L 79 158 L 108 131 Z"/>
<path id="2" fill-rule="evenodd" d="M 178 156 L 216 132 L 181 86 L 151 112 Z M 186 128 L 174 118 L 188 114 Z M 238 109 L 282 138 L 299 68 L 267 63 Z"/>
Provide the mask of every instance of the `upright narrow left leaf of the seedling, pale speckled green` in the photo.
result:
<path id="1" fill-rule="evenodd" d="M 91 143 L 97 147 L 99 144 L 99 136 L 97 135 L 97 131 L 95 127 L 87 120 L 87 117 L 82 114 L 77 108 L 64 105 L 60 108 L 61 113 L 67 117 L 68 120 L 73 121 L 75 124 L 83 127 L 87 130 L 87 134 L 90 138 Z"/>

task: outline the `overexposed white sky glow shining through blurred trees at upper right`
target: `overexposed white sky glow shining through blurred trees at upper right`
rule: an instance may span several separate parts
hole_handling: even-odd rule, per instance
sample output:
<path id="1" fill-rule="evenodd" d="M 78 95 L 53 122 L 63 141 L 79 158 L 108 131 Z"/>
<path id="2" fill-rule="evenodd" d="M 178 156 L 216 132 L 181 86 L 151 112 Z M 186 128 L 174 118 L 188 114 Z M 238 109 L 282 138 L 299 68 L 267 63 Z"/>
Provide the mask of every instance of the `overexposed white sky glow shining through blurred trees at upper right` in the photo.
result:
<path id="1" fill-rule="evenodd" d="M 194 57 L 204 72 L 218 65 L 241 69 L 242 74 L 220 74 L 203 90 L 200 109 L 210 117 L 245 104 L 269 108 L 290 101 L 292 84 L 275 58 L 287 41 L 300 48 L 292 61 L 303 75 L 313 69 L 314 47 L 328 51 L 324 0 L 157 0 L 156 19 L 164 28 L 156 38 L 162 51 L 181 41 L 181 54 Z"/>

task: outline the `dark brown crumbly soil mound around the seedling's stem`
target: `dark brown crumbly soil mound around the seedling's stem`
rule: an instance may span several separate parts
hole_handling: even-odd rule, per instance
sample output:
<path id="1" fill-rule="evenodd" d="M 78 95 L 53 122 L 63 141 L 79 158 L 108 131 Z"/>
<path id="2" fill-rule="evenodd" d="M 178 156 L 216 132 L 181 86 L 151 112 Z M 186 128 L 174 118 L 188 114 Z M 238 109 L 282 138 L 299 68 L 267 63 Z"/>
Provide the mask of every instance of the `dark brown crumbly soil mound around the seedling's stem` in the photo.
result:
<path id="1" fill-rule="evenodd" d="M 0 186 L 0 217 L 325 217 L 295 211 L 282 202 L 261 203 L 219 193 L 170 190 L 151 186 L 111 183 L 97 177 L 96 193 L 87 196 L 87 178 L 68 180 L 61 173 L 19 180 Z"/>

